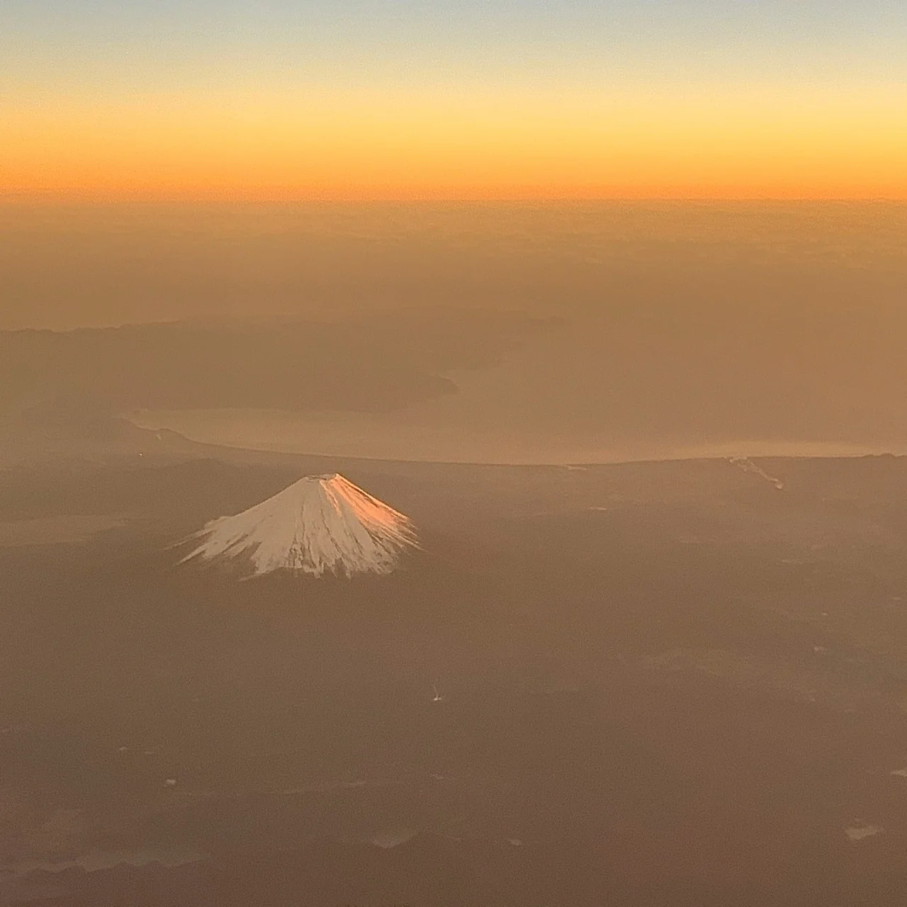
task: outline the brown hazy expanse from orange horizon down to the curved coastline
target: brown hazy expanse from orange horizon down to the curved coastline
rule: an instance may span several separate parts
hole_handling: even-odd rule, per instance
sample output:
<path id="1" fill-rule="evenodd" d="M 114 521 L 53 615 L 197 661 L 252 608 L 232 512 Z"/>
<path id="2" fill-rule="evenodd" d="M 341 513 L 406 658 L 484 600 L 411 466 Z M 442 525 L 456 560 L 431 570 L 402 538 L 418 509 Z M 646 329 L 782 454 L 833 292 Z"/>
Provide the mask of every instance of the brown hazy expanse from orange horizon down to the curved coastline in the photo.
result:
<path id="1" fill-rule="evenodd" d="M 0 337 L 7 413 L 442 461 L 907 444 L 897 202 L 22 201 L 0 229 L 3 327 L 82 328 Z"/>

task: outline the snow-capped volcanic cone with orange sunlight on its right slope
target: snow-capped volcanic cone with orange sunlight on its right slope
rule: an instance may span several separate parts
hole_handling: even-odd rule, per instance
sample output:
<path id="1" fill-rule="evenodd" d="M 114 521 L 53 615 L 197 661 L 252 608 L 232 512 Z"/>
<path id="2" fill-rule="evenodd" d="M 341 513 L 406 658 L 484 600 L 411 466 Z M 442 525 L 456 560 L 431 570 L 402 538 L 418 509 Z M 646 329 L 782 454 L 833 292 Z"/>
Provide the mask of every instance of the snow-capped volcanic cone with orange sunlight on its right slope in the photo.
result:
<path id="1" fill-rule="evenodd" d="M 234 516 L 208 522 L 180 561 L 247 561 L 254 575 L 389 573 L 417 548 L 413 523 L 342 475 L 310 475 Z M 190 541 L 190 540 L 187 540 Z"/>

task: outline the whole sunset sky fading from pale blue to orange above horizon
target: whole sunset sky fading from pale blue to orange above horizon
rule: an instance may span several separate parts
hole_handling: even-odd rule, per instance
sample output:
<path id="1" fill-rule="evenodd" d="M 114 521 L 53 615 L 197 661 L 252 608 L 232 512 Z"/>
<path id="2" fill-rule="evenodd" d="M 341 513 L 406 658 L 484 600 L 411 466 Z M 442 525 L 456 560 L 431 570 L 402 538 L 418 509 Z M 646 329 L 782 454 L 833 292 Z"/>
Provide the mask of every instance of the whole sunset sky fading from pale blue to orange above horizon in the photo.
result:
<path id="1" fill-rule="evenodd" d="M 16 198 L 907 199 L 902 0 L 5 0 Z"/>

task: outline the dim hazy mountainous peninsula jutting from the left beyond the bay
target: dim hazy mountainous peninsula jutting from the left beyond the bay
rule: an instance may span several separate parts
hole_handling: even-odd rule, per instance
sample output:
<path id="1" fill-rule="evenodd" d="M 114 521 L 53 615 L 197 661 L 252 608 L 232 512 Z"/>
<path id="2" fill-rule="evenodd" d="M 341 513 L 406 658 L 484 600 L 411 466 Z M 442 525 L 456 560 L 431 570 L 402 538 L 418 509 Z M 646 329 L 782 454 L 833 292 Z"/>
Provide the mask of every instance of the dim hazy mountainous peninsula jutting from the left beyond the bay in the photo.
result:
<path id="1" fill-rule="evenodd" d="M 394 412 L 455 394 L 448 371 L 499 366 L 556 327 L 518 312 L 430 307 L 330 321 L 0 330 L 0 416 L 34 405 Z"/>

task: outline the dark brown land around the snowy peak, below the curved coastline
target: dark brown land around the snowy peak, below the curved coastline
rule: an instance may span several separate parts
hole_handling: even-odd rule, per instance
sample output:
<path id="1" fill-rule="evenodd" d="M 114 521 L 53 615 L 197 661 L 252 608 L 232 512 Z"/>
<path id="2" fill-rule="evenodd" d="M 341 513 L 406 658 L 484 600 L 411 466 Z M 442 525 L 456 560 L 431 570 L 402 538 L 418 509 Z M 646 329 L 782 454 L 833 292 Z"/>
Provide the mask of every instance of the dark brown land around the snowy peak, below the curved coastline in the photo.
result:
<path id="1" fill-rule="evenodd" d="M 907 459 L 200 451 L 0 473 L 0 902 L 907 902 Z M 328 469 L 404 570 L 175 566 Z"/>

